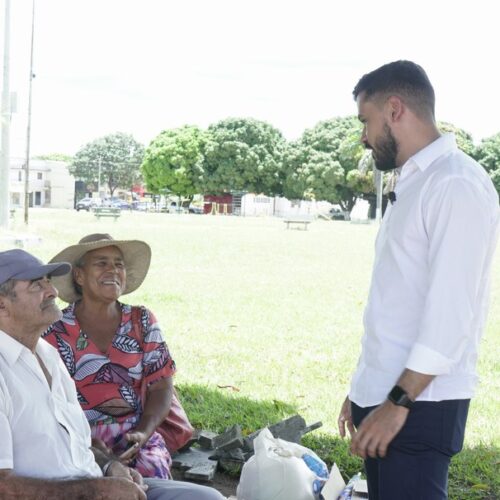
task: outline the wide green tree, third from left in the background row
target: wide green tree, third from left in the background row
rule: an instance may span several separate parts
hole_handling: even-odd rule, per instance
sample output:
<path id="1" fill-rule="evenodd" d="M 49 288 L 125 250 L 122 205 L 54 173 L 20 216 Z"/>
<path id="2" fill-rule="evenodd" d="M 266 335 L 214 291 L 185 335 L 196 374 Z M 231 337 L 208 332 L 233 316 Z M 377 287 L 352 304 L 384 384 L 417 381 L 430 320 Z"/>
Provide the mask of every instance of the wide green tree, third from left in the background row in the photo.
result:
<path id="1" fill-rule="evenodd" d="M 253 118 L 228 118 L 210 125 L 204 147 L 204 191 L 281 194 L 285 139 Z"/>

